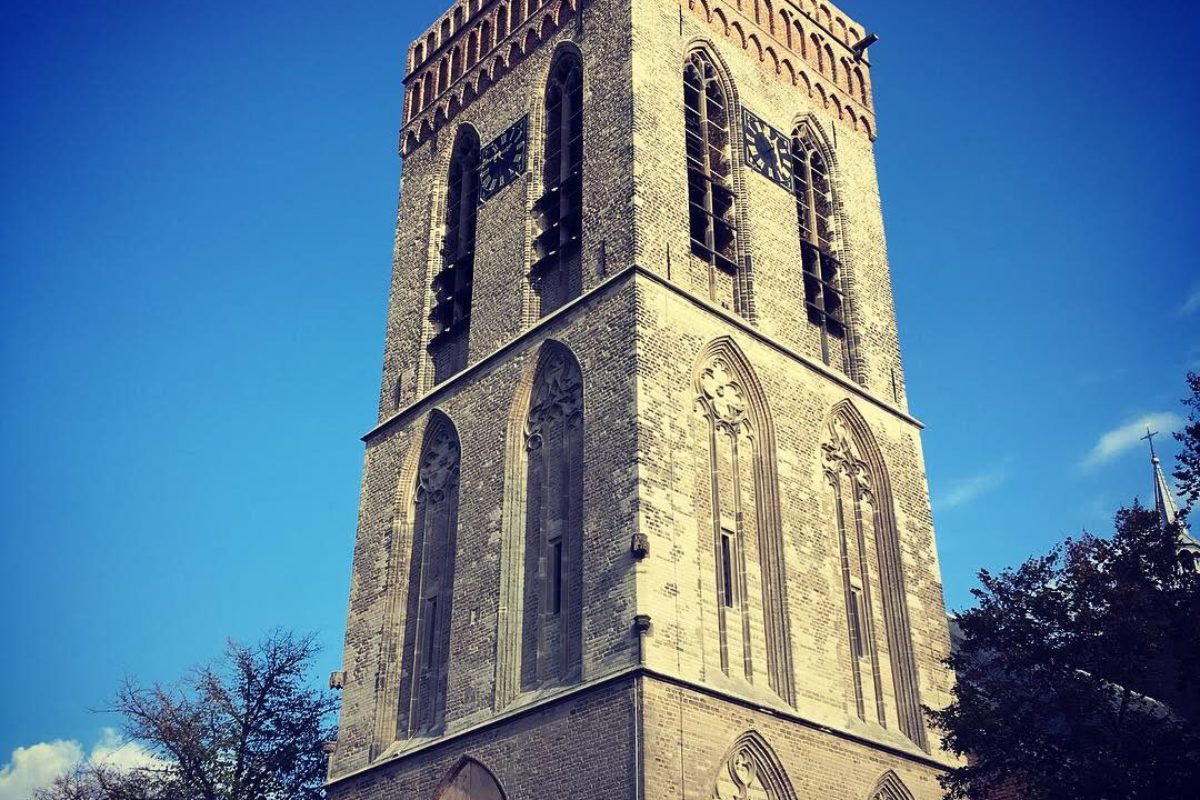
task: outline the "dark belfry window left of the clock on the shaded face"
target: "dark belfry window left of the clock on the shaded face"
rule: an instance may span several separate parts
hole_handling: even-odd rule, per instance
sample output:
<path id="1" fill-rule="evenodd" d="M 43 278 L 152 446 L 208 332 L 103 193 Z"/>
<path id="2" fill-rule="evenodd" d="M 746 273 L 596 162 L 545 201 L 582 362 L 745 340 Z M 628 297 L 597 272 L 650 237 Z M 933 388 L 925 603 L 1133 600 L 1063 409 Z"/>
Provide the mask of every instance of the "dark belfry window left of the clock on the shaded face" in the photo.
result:
<path id="1" fill-rule="evenodd" d="M 442 270 L 433 278 L 436 330 L 430 342 L 434 383 L 467 366 L 470 299 L 475 273 L 475 213 L 479 207 L 479 136 L 463 126 L 455 142 L 446 192 Z"/>

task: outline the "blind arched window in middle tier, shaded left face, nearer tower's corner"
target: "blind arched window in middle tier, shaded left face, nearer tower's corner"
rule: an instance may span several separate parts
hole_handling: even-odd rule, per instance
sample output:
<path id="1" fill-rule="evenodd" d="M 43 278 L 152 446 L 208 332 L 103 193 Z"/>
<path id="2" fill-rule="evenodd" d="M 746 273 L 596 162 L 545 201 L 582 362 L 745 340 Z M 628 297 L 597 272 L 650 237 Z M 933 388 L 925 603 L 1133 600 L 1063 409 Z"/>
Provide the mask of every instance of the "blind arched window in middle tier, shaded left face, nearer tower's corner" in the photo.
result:
<path id="1" fill-rule="evenodd" d="M 583 649 L 583 377 L 559 344 L 539 359 L 526 423 L 521 686 L 578 680 Z"/>

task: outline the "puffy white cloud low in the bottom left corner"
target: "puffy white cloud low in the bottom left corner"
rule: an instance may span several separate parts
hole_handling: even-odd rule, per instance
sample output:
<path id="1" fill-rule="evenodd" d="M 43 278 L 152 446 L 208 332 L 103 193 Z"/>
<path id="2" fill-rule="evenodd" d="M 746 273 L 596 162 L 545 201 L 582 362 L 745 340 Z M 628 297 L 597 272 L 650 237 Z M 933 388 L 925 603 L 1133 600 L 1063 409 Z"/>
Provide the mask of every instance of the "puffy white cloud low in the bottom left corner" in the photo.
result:
<path id="1" fill-rule="evenodd" d="M 116 770 L 152 766 L 157 759 L 140 745 L 125 741 L 112 728 L 101 732 L 100 740 L 84 757 L 78 741 L 55 739 L 12 751 L 8 763 L 0 766 L 0 800 L 30 800 L 37 789 L 86 760 Z"/>

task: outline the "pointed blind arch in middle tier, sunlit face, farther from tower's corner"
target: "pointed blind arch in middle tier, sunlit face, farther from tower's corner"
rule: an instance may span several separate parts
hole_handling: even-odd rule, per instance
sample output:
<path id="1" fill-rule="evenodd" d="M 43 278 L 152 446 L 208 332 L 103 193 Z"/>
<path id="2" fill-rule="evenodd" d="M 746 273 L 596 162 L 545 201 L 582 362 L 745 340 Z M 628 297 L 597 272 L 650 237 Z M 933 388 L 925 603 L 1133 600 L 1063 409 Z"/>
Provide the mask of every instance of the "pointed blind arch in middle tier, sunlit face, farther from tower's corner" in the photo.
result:
<path id="1" fill-rule="evenodd" d="M 850 401 L 830 411 L 821 450 L 858 716 L 898 728 L 928 750 L 892 485 L 878 444 Z"/>

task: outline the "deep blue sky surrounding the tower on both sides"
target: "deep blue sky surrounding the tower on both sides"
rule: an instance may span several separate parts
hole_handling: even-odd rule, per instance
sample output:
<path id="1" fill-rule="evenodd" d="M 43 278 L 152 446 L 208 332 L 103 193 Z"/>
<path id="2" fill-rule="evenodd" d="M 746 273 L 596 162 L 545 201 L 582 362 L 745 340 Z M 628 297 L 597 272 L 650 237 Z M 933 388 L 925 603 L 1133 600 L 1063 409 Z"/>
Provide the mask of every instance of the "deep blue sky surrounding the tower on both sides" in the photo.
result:
<path id="1" fill-rule="evenodd" d="M 980 566 L 1145 498 L 1120 431 L 1171 427 L 1200 368 L 1200 11 L 845 6 L 882 37 L 908 389 L 961 606 Z M 7 10 L 0 764 L 90 748 L 121 675 L 173 679 L 228 634 L 317 631 L 337 667 L 404 48 L 442 10 Z"/>

